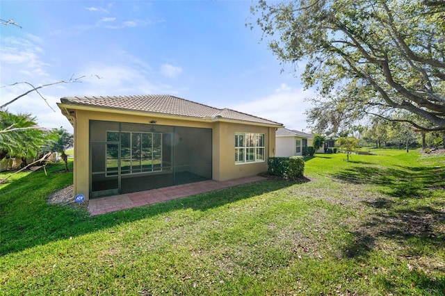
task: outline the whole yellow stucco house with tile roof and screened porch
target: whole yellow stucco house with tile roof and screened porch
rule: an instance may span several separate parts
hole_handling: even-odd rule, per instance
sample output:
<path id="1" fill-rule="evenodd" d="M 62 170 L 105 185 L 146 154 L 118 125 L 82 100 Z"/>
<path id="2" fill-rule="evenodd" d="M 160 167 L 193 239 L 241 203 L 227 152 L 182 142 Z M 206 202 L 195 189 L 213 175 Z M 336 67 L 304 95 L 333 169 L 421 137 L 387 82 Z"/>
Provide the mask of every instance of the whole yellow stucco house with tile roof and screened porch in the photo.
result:
<path id="1" fill-rule="evenodd" d="M 170 95 L 63 97 L 74 195 L 88 198 L 267 170 L 282 124 Z"/>

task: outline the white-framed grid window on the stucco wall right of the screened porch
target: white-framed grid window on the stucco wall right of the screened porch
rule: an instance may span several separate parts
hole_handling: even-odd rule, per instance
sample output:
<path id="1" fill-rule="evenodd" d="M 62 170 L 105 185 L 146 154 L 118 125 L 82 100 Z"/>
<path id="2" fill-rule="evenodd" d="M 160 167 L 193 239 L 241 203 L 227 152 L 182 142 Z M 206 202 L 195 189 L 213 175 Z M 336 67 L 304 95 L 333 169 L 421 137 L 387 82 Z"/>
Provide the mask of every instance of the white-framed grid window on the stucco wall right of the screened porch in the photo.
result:
<path id="1" fill-rule="evenodd" d="M 235 163 L 254 163 L 266 159 L 264 133 L 235 133 Z"/>

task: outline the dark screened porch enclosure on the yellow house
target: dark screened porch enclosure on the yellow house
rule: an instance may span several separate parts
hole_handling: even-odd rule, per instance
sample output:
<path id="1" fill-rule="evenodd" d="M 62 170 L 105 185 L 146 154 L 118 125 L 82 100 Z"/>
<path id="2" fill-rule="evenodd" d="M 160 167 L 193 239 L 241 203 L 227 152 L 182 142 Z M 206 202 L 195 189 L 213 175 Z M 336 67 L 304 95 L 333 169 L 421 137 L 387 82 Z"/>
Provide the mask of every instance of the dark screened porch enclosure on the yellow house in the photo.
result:
<path id="1" fill-rule="evenodd" d="M 90 121 L 90 197 L 212 179 L 211 129 Z"/>

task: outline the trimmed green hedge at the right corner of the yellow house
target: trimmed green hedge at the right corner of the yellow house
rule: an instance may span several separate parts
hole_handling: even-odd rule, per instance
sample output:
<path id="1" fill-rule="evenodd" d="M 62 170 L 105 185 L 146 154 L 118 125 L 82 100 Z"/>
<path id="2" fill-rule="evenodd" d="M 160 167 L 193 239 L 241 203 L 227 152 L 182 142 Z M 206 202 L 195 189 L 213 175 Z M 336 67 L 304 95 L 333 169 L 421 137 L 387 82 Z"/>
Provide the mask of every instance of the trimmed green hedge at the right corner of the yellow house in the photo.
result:
<path id="1" fill-rule="evenodd" d="M 297 179 L 305 172 L 305 160 L 302 156 L 270 157 L 267 161 L 268 174 Z"/>

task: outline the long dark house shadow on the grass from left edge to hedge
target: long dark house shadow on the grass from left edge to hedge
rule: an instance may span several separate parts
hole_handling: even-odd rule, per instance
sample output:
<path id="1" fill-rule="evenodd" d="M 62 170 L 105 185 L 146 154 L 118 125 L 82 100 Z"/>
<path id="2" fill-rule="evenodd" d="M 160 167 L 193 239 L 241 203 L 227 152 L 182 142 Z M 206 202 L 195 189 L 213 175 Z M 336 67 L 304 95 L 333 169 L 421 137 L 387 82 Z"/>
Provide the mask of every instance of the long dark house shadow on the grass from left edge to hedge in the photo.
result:
<path id="1" fill-rule="evenodd" d="M 33 172 L 0 189 L 0 256 L 182 208 L 207 211 L 295 184 L 289 181 L 258 181 L 90 217 L 84 206 L 82 208 L 78 204 L 72 206 L 47 204 L 47 196 L 60 189 L 60 185 L 59 188 L 51 188 L 51 179 L 56 177 L 54 174 L 49 176 L 51 177 L 45 177 L 43 172 Z M 70 178 L 72 180 L 72 174 Z M 26 183 L 35 183 L 36 179 L 43 188 L 38 194 L 34 194 L 33 188 L 26 188 Z M 65 181 L 65 184 L 69 184 L 69 181 Z M 30 195 L 24 192 L 29 192 Z"/>

